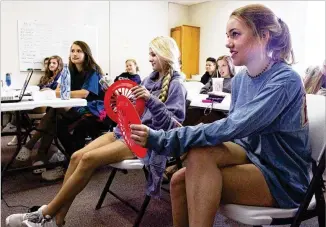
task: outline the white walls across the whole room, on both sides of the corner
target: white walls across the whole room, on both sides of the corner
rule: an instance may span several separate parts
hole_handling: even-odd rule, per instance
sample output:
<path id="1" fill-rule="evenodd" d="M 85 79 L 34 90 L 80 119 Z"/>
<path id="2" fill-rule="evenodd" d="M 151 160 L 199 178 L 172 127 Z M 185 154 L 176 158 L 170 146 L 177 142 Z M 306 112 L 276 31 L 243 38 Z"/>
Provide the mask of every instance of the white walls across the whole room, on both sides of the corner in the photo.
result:
<path id="1" fill-rule="evenodd" d="M 258 2 L 258 1 L 255 1 Z M 200 73 L 205 59 L 228 54 L 225 26 L 230 13 L 249 1 L 211 1 L 192 6 L 166 1 L 3 1 L 1 2 L 1 78 L 13 74 L 21 86 L 26 72 L 19 71 L 17 20 L 42 20 L 49 24 L 89 24 L 98 28 L 98 63 L 112 77 L 124 71 L 127 58 L 135 58 L 144 78 L 151 72 L 148 43 L 182 24 L 199 26 Z M 290 27 L 300 74 L 310 64 L 325 59 L 325 2 L 261 2 Z M 73 9 L 73 10 L 72 10 Z M 291 9 L 291 10 L 289 10 Z M 54 12 L 61 13 L 52 19 Z M 42 73 L 35 73 L 31 84 Z"/>

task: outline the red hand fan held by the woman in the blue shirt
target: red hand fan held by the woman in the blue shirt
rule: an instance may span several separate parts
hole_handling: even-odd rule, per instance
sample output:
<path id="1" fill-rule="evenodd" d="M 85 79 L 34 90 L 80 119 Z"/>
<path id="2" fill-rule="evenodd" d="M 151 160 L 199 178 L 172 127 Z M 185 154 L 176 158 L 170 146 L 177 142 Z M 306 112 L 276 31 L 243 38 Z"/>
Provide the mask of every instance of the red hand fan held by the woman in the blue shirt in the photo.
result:
<path id="1" fill-rule="evenodd" d="M 129 149 L 138 157 L 144 158 L 146 156 L 147 149 L 136 144 L 131 136 L 131 124 L 141 124 L 141 120 L 138 116 L 136 108 L 130 102 L 130 100 L 123 95 L 117 97 L 117 119 L 118 126 L 121 130 L 122 136 L 126 141 Z"/>

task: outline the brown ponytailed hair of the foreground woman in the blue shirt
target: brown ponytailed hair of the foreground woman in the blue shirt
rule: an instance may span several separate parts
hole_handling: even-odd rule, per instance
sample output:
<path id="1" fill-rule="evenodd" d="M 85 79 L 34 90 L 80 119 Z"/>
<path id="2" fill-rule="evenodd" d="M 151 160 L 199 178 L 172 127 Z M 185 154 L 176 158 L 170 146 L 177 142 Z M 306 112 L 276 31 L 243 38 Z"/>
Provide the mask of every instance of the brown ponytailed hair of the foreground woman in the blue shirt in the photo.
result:
<path id="1" fill-rule="evenodd" d="M 262 38 L 263 31 L 269 32 L 266 51 L 274 61 L 294 63 L 289 28 L 272 10 L 261 4 L 250 4 L 236 9 L 231 13 L 232 16 L 244 21 L 256 37 Z"/>

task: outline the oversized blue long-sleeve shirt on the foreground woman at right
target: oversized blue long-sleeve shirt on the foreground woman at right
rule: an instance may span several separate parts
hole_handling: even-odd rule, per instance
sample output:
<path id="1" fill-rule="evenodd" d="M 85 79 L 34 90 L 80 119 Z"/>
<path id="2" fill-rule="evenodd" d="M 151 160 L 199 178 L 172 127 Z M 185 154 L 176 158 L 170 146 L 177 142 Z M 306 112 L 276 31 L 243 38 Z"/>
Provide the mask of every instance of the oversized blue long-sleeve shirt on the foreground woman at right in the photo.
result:
<path id="1" fill-rule="evenodd" d="M 150 129 L 147 147 L 169 156 L 192 147 L 238 143 L 262 171 L 278 205 L 297 207 L 309 184 L 311 161 L 305 100 L 300 76 L 285 63 L 257 78 L 241 71 L 232 80 L 227 118 L 170 131 Z"/>

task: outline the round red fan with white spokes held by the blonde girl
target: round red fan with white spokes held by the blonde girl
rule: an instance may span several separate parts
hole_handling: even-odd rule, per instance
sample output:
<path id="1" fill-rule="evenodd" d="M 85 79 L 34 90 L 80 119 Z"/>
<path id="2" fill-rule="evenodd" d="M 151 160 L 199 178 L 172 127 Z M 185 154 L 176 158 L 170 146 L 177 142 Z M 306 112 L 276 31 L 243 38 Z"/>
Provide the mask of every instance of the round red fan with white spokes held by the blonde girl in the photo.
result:
<path id="1" fill-rule="evenodd" d="M 135 107 L 139 116 L 141 116 L 145 110 L 145 100 L 136 99 L 131 92 L 131 88 L 138 84 L 132 80 L 119 80 L 112 84 L 105 93 L 104 107 L 108 117 L 117 123 L 117 97 L 123 95 L 129 99 L 132 105 Z"/>

